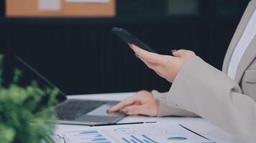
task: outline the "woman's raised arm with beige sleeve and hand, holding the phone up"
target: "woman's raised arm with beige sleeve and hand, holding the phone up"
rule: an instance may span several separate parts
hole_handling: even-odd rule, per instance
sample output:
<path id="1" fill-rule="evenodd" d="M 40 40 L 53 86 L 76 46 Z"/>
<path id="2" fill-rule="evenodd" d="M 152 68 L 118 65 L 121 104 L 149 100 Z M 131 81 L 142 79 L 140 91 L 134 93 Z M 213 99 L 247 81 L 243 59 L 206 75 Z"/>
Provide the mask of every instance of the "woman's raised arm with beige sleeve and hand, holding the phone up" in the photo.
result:
<path id="1" fill-rule="evenodd" d="M 173 82 L 166 96 L 168 106 L 196 113 L 244 141 L 256 142 L 256 103 L 242 94 L 234 80 L 192 51 L 179 50 L 168 56 L 131 46 L 150 69 Z"/>

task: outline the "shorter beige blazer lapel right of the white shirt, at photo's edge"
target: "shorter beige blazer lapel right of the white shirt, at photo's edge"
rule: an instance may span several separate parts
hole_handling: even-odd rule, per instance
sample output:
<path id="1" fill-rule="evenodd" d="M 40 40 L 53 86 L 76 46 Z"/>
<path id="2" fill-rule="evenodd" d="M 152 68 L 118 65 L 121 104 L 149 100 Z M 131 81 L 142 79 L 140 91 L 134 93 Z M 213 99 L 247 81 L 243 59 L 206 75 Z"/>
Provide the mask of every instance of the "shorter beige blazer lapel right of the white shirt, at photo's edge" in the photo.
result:
<path id="1" fill-rule="evenodd" d="M 234 80 L 239 83 L 244 75 L 244 71 L 250 66 L 252 61 L 254 61 L 256 57 L 256 36 L 252 39 L 250 46 L 248 46 L 247 50 L 244 52 L 241 61 L 237 67 L 237 74 Z"/>

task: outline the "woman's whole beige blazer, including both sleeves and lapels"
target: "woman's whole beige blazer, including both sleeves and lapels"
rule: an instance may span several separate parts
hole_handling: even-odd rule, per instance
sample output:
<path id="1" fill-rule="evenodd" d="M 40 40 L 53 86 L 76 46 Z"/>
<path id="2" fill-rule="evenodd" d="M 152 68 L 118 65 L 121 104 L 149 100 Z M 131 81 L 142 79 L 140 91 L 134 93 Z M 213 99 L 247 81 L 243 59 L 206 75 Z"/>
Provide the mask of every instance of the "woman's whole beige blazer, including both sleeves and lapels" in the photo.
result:
<path id="1" fill-rule="evenodd" d="M 245 142 L 256 142 L 256 36 L 242 56 L 235 80 L 227 76 L 233 51 L 255 9 L 252 0 L 227 50 L 223 71 L 196 56 L 183 65 L 169 92 L 152 92 L 160 104 L 158 116 L 198 115 Z"/>

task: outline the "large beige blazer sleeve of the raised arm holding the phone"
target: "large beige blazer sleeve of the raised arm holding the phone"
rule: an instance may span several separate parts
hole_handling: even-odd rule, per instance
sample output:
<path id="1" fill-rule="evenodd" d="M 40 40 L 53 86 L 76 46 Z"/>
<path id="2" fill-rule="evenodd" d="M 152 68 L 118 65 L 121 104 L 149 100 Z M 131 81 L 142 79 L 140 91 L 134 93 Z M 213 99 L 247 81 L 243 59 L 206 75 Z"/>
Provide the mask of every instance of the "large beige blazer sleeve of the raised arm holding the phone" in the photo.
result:
<path id="1" fill-rule="evenodd" d="M 194 112 L 244 141 L 256 142 L 256 102 L 237 82 L 198 56 L 180 69 L 167 104 Z"/>

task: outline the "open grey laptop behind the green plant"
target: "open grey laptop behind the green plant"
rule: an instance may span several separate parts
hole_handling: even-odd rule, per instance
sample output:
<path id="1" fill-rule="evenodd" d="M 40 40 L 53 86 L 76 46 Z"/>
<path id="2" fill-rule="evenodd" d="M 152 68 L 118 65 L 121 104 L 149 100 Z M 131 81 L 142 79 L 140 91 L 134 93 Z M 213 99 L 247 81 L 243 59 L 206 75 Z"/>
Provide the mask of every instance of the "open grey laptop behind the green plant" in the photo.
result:
<path id="1" fill-rule="evenodd" d="M 17 54 L 6 55 L 4 58 L 4 79 L 12 80 L 13 69 L 22 70 L 20 84 L 29 84 L 35 80 L 40 87 L 47 86 L 58 89 L 52 82 L 46 79 L 39 71 L 24 61 Z M 96 101 L 96 100 L 80 100 L 68 99 L 60 89 L 57 96 L 58 103 L 55 104 L 55 112 L 57 113 L 59 124 L 109 124 L 115 123 L 125 117 L 122 113 L 108 113 L 107 109 L 117 104 L 114 101 Z"/>

